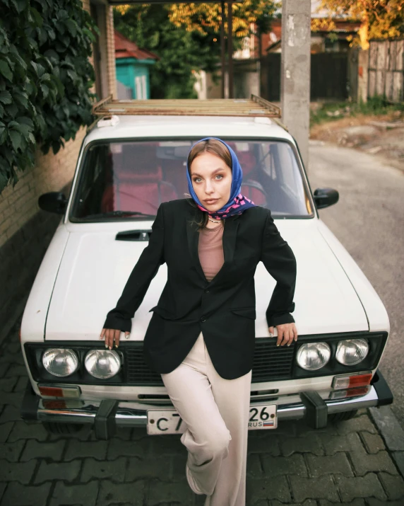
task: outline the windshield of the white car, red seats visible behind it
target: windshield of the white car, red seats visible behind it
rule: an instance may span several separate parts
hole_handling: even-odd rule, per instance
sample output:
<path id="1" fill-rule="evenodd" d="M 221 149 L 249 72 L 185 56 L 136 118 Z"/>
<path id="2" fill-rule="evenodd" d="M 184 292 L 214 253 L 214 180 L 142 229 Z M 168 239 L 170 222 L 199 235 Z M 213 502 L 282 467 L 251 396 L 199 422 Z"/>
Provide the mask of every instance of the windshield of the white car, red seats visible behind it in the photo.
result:
<path id="1" fill-rule="evenodd" d="M 98 141 L 83 156 L 73 222 L 154 219 L 161 202 L 189 197 L 186 157 L 198 139 Z M 295 151 L 278 140 L 224 139 L 243 169 L 242 194 L 274 217 L 310 217 Z"/>

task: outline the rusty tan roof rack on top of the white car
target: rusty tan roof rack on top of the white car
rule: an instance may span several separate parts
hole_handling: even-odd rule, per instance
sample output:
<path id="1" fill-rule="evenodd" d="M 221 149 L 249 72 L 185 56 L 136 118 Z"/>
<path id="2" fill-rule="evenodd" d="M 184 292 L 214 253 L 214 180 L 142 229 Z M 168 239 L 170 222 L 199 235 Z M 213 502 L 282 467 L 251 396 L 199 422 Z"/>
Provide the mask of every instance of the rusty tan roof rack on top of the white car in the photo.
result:
<path id="1" fill-rule="evenodd" d="M 264 98 L 207 98 L 113 100 L 112 95 L 93 105 L 93 114 L 280 117 L 280 108 Z"/>

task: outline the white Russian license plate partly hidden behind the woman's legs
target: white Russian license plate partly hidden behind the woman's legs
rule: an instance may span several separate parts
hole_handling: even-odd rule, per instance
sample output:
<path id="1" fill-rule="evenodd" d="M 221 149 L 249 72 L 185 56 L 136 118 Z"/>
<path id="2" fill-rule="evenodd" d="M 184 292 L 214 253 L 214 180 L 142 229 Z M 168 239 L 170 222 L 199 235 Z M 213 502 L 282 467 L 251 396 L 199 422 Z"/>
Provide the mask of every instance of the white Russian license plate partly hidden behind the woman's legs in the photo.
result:
<path id="1" fill-rule="evenodd" d="M 249 412 L 249 430 L 276 429 L 278 417 L 276 404 L 251 406 Z M 176 410 L 148 410 L 148 435 L 182 434 L 186 423 Z"/>

